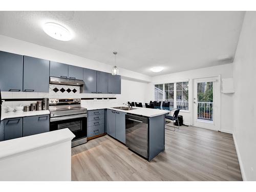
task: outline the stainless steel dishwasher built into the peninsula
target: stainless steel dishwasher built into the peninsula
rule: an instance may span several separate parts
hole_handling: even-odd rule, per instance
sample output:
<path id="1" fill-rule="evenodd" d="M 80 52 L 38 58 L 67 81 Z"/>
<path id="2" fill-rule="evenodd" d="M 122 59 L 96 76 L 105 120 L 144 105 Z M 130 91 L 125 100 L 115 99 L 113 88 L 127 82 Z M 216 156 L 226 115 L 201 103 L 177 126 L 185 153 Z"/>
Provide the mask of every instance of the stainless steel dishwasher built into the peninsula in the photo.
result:
<path id="1" fill-rule="evenodd" d="M 130 150 L 148 159 L 148 118 L 125 115 L 125 144 Z"/>

